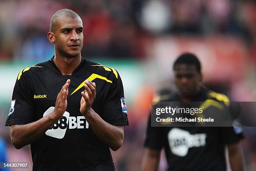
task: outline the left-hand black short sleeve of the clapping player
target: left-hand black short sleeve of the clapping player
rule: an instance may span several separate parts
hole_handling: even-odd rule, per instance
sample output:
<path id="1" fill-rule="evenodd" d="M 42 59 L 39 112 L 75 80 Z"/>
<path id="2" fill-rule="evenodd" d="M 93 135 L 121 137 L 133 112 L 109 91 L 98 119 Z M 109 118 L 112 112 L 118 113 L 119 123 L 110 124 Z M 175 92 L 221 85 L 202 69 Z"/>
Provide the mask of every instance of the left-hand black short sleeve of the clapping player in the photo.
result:
<path id="1" fill-rule="evenodd" d="M 10 111 L 5 126 L 33 122 L 33 92 L 27 73 L 20 72 L 14 89 Z"/>

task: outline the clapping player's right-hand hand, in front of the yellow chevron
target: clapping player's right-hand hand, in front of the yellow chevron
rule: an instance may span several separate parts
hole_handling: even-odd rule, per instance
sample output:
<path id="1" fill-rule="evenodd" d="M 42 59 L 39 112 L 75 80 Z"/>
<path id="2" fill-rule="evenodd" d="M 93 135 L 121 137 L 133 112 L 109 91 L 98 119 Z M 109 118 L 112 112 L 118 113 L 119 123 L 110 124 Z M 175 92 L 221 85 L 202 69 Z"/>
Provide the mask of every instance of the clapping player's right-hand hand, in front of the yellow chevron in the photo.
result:
<path id="1" fill-rule="evenodd" d="M 80 112 L 85 116 L 87 112 L 91 110 L 92 103 L 95 100 L 96 84 L 87 80 L 84 83 L 84 88 L 86 89 L 86 92 L 81 92 L 82 98 L 80 101 Z"/>

